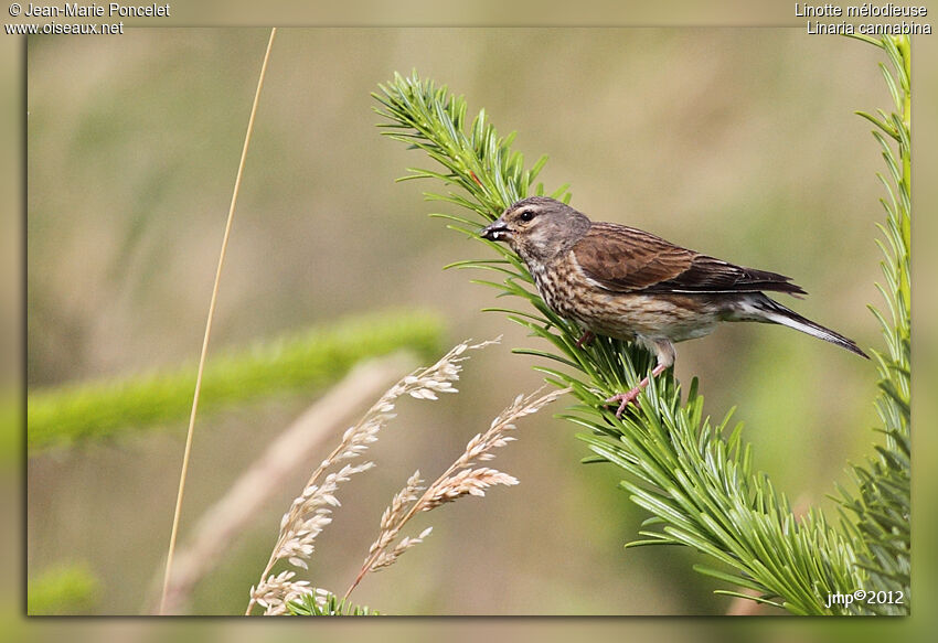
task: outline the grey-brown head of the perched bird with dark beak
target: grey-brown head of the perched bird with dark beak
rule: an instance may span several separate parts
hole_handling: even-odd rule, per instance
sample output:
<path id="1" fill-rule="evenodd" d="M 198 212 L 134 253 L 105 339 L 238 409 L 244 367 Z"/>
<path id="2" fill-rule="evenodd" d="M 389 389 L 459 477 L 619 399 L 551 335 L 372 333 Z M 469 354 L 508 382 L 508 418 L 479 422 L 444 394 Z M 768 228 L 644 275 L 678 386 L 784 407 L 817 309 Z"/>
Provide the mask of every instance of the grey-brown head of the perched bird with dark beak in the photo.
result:
<path id="1" fill-rule="evenodd" d="M 510 205 L 483 227 L 479 236 L 508 242 L 522 259 L 547 261 L 569 250 L 589 229 L 589 219 L 566 203 L 547 196 L 529 196 Z"/>

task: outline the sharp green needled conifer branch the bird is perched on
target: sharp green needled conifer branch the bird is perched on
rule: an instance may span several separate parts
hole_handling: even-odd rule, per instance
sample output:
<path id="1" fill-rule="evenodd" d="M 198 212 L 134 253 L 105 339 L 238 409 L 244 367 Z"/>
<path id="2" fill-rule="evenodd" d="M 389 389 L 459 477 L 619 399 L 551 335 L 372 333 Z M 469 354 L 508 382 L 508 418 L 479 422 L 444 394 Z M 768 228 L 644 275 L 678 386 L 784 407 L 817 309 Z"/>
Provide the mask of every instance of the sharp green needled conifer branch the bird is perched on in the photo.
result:
<path id="1" fill-rule="evenodd" d="M 384 133 L 426 152 L 444 171 L 408 169 L 404 179 L 440 180 L 468 195 L 425 193 L 468 211 L 465 215 L 433 214 L 449 219 L 449 228 L 477 239 L 498 258 L 469 260 L 449 267 L 486 270 L 500 280 L 477 280 L 495 288 L 499 297 L 515 297 L 527 307 L 490 308 L 546 340 L 551 351 L 515 350 L 547 360 L 536 366 L 556 386 L 571 386 L 578 404 L 565 414 L 584 427 L 578 436 L 595 453 L 587 461 L 612 462 L 629 478 L 621 485 L 631 500 L 650 512 L 643 540 L 647 544 L 680 544 L 714 559 L 716 567 L 697 566 L 736 588 L 729 596 L 771 603 L 799 614 L 863 613 L 864 606 L 827 607 L 827 597 L 866 588 L 868 571 L 861 565 L 866 551 L 855 549 L 852 525 L 830 525 L 819 511 L 796 518 L 785 495 L 775 491 L 768 476 L 754 473 L 749 444 L 740 427 L 729 430 L 726 418 L 714 425 L 702 418 L 703 399 L 696 381 L 686 401 L 671 374 L 652 379 L 646 393 L 621 419 L 604 404 L 612 394 L 635 386 L 651 368 L 651 356 L 630 343 L 598 336 L 577 347 L 582 330 L 551 311 L 533 288 L 533 280 L 510 249 L 482 239 L 478 231 L 501 211 L 534 189 L 545 157 L 524 170 L 523 157 L 511 150 L 513 135 L 499 137 L 484 110 L 467 122 L 467 105 L 446 86 L 436 87 L 416 73 L 395 75 L 374 97 Z M 553 196 L 569 200 L 567 186 Z M 562 369 L 553 367 L 561 365 Z M 885 389 L 884 389 L 885 390 Z M 875 474 L 874 474 L 875 476 Z M 880 478 L 876 478 L 877 480 Z M 877 487 L 881 493 L 885 487 Z M 861 523 L 862 524 L 862 523 Z M 863 528 L 861 526 L 861 528 Z M 863 549 L 863 542 L 857 546 Z"/>

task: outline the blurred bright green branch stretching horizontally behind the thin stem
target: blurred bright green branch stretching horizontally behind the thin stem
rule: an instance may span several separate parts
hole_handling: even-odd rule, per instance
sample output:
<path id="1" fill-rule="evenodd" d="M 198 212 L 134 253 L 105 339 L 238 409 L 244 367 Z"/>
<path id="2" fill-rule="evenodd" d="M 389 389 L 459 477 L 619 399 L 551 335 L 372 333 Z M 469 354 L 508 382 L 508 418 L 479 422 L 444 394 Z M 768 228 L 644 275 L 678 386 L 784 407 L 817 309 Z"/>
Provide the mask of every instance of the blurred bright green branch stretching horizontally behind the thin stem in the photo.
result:
<path id="1" fill-rule="evenodd" d="M 428 312 L 388 310 L 220 354 L 206 363 L 200 410 L 265 396 L 324 388 L 358 362 L 399 349 L 423 356 L 440 345 L 441 322 Z M 189 416 L 195 368 L 30 392 L 28 449 L 102 439 Z"/>

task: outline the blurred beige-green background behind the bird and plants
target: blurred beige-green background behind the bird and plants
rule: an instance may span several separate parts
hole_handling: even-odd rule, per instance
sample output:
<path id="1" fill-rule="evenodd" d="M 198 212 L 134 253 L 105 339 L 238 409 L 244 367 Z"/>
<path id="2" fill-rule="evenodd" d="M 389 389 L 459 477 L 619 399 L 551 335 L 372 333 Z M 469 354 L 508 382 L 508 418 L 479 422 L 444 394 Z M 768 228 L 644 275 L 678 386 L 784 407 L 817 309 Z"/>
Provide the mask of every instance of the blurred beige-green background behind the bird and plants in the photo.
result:
<path id="1" fill-rule="evenodd" d="M 267 30 L 134 29 L 28 44 L 30 390 L 192 363 Z M 518 393 L 543 347 L 480 308 L 494 300 L 443 265 L 486 250 L 426 214 L 394 179 L 429 162 L 382 139 L 370 97 L 395 71 L 484 107 L 515 148 L 548 153 L 573 205 L 810 293 L 786 301 L 881 345 L 866 304 L 880 254 L 882 159 L 853 110 L 887 107 L 875 47 L 803 29 L 285 29 L 247 159 L 212 355 L 387 307 L 445 320 L 440 352 L 504 334 L 467 364 L 459 396 L 405 403 L 343 487 L 309 578 L 340 591 L 381 511 L 414 469 L 443 471 Z M 426 360 L 425 360 L 426 362 Z M 679 345 L 706 408 L 738 406 L 755 461 L 799 506 L 824 494 L 877 424 L 871 363 L 807 335 L 726 325 Z M 202 513 L 311 401 L 278 396 L 200 418 L 181 544 Z M 561 410 L 559 404 L 553 407 Z M 729 601 L 676 548 L 625 551 L 646 517 L 618 471 L 584 467 L 575 427 L 522 420 L 494 465 L 521 480 L 420 516 L 433 536 L 354 597 L 392 614 L 721 614 Z M 28 462 L 26 578 L 85 575 L 71 613 L 148 611 L 162 571 L 184 420 L 43 452 Z M 323 453 L 324 454 L 324 453 Z M 311 462 L 310 469 L 316 462 Z M 190 613 L 246 604 L 277 524 L 308 472 L 258 514 L 196 587 Z M 81 580 L 81 579 L 79 579 Z M 114 588 L 119 587 L 119 591 Z"/>

